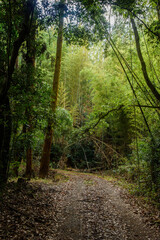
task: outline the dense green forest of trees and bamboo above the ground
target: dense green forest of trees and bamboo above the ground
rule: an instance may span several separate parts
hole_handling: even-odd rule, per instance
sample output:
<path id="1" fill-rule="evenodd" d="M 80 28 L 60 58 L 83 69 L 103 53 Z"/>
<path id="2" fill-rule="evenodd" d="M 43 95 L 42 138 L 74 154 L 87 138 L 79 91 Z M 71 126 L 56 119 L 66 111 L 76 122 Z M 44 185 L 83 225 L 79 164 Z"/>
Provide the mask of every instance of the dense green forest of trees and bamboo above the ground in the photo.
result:
<path id="1" fill-rule="evenodd" d="M 0 1 L 0 182 L 113 170 L 160 199 L 160 1 Z"/>

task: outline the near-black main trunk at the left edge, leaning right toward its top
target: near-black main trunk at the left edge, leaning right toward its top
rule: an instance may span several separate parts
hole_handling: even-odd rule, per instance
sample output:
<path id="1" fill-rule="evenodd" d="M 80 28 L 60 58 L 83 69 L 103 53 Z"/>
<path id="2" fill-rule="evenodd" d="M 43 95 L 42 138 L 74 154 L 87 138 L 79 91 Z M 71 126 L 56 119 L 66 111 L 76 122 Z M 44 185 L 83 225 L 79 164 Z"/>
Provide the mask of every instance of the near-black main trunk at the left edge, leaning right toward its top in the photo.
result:
<path id="1" fill-rule="evenodd" d="M 11 109 L 8 97 L 8 90 L 10 88 L 10 83 L 12 80 L 12 74 L 14 72 L 14 67 L 16 64 L 16 59 L 18 57 L 19 49 L 22 43 L 25 41 L 27 34 L 29 33 L 29 23 L 30 16 L 33 12 L 35 6 L 35 0 L 27 0 L 24 9 L 24 21 L 22 24 L 22 29 L 19 32 L 18 38 L 13 43 L 11 50 L 10 61 L 8 62 L 8 71 L 5 75 L 4 84 L 0 92 L 0 130 L 1 130 L 1 140 L 0 140 L 0 185 L 7 181 L 8 169 L 9 169 L 9 149 L 10 149 L 10 139 L 11 139 Z M 8 34 L 9 37 L 11 36 Z M 11 39 L 8 39 L 11 42 Z M 10 49 L 8 49 L 8 55 L 10 55 Z"/>

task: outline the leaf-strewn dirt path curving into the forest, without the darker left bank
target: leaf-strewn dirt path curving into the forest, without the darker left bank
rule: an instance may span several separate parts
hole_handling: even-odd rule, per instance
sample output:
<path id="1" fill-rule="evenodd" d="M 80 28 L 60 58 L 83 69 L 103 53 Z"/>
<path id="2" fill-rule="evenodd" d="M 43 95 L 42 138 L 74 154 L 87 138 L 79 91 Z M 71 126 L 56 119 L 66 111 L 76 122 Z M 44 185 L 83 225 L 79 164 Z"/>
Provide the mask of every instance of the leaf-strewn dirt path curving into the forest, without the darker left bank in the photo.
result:
<path id="1" fill-rule="evenodd" d="M 124 201 L 121 188 L 93 175 L 66 175 L 69 181 L 58 186 L 56 239 L 160 239 L 143 223 L 138 211 Z"/>

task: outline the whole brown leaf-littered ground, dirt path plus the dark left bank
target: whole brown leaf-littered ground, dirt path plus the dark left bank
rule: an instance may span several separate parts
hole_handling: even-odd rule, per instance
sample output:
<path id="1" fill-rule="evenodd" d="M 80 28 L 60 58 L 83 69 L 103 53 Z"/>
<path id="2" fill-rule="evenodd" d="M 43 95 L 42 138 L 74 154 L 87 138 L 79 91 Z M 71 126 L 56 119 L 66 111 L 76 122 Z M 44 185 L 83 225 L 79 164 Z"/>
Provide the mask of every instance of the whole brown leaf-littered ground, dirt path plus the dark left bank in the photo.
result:
<path id="1" fill-rule="evenodd" d="M 93 175 L 60 182 L 10 183 L 0 208 L 0 239 L 160 240 L 125 191 Z"/>

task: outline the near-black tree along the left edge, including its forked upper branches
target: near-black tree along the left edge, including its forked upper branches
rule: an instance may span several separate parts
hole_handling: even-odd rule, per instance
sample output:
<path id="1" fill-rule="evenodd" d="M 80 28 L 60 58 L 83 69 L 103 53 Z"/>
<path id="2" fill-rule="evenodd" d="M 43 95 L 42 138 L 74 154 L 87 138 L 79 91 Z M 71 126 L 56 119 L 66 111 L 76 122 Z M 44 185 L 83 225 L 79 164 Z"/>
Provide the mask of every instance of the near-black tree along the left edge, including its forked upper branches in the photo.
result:
<path id="1" fill-rule="evenodd" d="M 1 6 L 6 12 L 7 23 L 5 23 L 8 36 L 7 36 L 7 55 L 8 62 L 7 70 L 4 73 L 3 85 L 1 87 L 0 92 L 0 132 L 1 132 L 1 140 L 0 140 L 0 184 L 3 184 L 7 181 L 8 177 L 8 167 L 9 167 L 9 148 L 10 148 L 10 139 L 11 139 L 11 128 L 12 128 L 12 120 L 11 120 L 11 109 L 10 102 L 8 96 L 8 90 L 11 85 L 12 75 L 14 72 L 14 67 L 16 64 L 17 56 L 19 49 L 22 43 L 25 41 L 29 30 L 30 30 L 30 22 L 32 19 L 32 13 L 34 11 L 36 0 L 26 0 L 22 1 L 23 5 L 23 15 L 21 16 L 21 28 L 15 34 L 18 35 L 18 38 L 12 37 L 12 8 L 14 7 L 14 2 L 9 1 L 7 5 Z M 6 7 L 7 6 L 7 7 Z M 6 19 L 4 19 L 5 21 Z"/>

